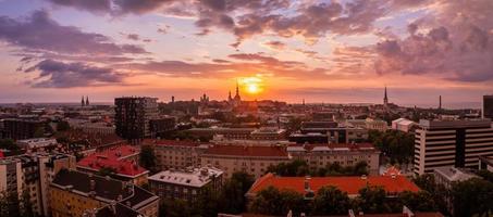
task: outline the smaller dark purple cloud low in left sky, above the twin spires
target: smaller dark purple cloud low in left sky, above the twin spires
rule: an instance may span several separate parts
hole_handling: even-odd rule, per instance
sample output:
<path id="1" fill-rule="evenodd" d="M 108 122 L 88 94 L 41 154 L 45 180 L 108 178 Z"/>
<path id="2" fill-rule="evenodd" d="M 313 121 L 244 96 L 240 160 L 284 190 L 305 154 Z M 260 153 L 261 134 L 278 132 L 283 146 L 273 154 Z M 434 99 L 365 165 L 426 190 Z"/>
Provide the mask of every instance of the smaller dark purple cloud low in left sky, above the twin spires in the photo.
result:
<path id="1" fill-rule="evenodd" d="M 24 72 L 39 72 L 39 77 L 30 82 L 33 87 L 37 88 L 107 86 L 120 84 L 123 79 L 122 74 L 111 68 L 53 60 L 44 60 Z"/>

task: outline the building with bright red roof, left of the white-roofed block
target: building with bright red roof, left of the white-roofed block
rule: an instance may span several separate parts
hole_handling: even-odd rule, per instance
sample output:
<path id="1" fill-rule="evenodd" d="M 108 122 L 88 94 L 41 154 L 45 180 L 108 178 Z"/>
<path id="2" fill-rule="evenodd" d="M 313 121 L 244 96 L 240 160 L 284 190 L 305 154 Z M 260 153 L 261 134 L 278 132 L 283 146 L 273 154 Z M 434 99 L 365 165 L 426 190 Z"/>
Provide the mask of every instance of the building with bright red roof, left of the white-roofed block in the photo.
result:
<path id="1" fill-rule="evenodd" d="M 77 169 L 93 174 L 109 169 L 112 178 L 141 186 L 147 183 L 149 170 L 138 165 L 139 153 L 135 146 L 113 146 L 82 158 L 77 162 Z"/>

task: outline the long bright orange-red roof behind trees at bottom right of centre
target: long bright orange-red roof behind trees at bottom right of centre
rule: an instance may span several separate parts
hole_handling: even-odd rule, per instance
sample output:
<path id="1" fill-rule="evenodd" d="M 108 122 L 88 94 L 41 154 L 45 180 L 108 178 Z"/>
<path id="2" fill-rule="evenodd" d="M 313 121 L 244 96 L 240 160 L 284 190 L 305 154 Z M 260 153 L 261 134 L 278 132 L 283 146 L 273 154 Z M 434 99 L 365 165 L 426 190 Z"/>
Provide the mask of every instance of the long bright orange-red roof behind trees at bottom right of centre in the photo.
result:
<path id="1" fill-rule="evenodd" d="M 369 176 L 366 179 L 361 177 L 312 177 L 309 180 L 310 189 L 315 192 L 324 186 L 334 186 L 341 191 L 347 192 L 349 195 L 357 195 L 358 191 L 367 184 L 381 186 L 387 193 L 419 191 L 419 188 L 415 183 L 403 176 L 395 178 L 389 176 Z M 279 177 L 273 174 L 267 174 L 254 183 L 248 193 L 257 193 L 270 186 L 305 193 L 305 177 Z"/>

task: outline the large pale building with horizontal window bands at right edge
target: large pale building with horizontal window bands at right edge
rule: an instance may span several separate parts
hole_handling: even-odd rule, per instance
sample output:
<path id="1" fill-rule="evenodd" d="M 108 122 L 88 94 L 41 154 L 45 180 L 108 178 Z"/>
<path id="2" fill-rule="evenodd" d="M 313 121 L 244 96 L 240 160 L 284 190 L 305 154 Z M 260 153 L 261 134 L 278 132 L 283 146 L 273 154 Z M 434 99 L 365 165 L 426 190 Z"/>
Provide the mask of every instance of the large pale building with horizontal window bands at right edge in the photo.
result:
<path id="1" fill-rule="evenodd" d="M 415 137 L 416 175 L 443 166 L 477 168 L 480 155 L 493 155 L 490 119 L 420 120 Z"/>

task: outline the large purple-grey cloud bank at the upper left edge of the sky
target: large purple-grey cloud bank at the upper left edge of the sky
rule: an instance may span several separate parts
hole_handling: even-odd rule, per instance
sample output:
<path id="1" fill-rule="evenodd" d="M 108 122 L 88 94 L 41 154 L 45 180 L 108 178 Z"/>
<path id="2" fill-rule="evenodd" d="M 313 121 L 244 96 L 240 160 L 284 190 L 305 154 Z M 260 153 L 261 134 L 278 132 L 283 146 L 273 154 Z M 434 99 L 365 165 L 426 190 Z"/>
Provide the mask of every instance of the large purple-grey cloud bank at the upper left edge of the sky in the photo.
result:
<path id="1" fill-rule="evenodd" d="M 116 44 L 103 35 L 61 26 L 46 11 L 36 11 L 24 21 L 0 16 L 0 40 L 39 52 L 108 55 L 146 53 L 138 46 Z"/>

